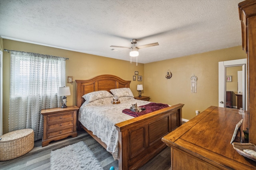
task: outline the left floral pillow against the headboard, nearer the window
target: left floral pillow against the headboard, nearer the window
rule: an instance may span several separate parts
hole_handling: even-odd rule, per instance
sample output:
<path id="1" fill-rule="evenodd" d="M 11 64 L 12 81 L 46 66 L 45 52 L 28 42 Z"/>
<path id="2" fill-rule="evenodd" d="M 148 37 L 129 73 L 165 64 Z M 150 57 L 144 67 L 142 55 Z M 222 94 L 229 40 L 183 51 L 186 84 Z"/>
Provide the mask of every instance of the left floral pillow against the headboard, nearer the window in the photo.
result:
<path id="1" fill-rule="evenodd" d="M 100 90 L 100 91 L 87 93 L 82 97 L 85 99 L 86 103 L 90 103 L 94 100 L 113 97 L 113 95 L 106 90 Z"/>

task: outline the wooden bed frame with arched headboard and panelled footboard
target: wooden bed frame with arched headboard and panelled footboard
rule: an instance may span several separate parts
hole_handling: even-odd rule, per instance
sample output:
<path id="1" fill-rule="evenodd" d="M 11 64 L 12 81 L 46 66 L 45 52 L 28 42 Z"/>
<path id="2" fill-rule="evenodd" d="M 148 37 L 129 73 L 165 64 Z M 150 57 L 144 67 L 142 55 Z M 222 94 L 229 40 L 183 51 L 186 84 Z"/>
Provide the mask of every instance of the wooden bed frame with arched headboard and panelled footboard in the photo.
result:
<path id="1" fill-rule="evenodd" d="M 114 153 L 109 150 L 109 144 L 106 142 L 106 140 L 100 139 L 100 137 L 98 137 L 99 135 L 97 136 L 93 131 L 89 130 L 91 128 L 89 125 L 86 125 L 86 123 L 83 125 L 83 123 L 81 123 L 81 121 L 83 121 L 82 119 L 86 119 L 86 116 L 88 116 L 86 115 L 85 117 L 81 118 L 82 108 L 89 108 L 88 106 L 90 105 L 85 102 L 83 96 L 96 91 L 106 90 L 110 92 L 112 89 L 130 88 L 130 82 L 131 81 L 123 80 L 118 76 L 110 74 L 96 76 L 90 80 L 76 80 L 77 106 L 80 107 L 78 115 L 79 120 L 77 122 L 78 131 L 81 130 L 82 127 L 96 141 L 98 141 L 98 143 L 111 152 L 112 155 Z M 135 100 L 134 98 L 132 99 L 129 97 L 120 97 L 121 103 L 116 105 L 112 104 L 111 107 L 121 107 L 121 105 L 126 102 L 126 99 L 128 102 L 138 102 L 138 106 L 146 104 L 146 101 Z M 110 100 L 110 98 L 108 100 Z M 123 114 L 122 118 L 124 121 L 114 122 L 113 127 L 106 128 L 114 128 L 118 134 L 116 139 L 118 143 L 117 155 L 113 155 L 113 157 L 118 158 L 119 169 L 138 169 L 140 166 L 148 162 L 148 160 L 156 156 L 156 154 L 158 154 L 162 149 L 164 149 L 166 145 L 161 141 L 161 139 L 182 125 L 183 106 L 184 104 L 176 104 L 145 115 L 141 115 L 139 117 L 129 117 L 130 115 L 119 113 Z M 125 107 L 127 108 L 128 105 Z M 93 115 L 96 115 L 97 111 L 94 113 L 95 114 Z M 104 115 L 104 117 L 106 117 L 106 115 Z"/>

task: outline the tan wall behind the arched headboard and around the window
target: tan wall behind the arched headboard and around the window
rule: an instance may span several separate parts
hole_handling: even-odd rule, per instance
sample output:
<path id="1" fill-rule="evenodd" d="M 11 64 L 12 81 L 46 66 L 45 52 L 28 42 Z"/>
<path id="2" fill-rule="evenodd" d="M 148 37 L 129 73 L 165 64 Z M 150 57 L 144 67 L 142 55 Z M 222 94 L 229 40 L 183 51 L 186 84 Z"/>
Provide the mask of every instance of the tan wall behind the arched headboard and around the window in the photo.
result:
<path id="1" fill-rule="evenodd" d="M 67 96 L 68 106 L 76 105 L 75 80 L 86 80 L 100 74 L 113 74 L 124 80 L 131 80 L 130 88 L 134 96 L 138 96 L 136 90 L 137 84 L 143 84 L 144 82 L 144 78 L 142 82 L 138 82 L 137 79 L 136 81 L 132 80 L 134 71 L 138 71 L 139 75 L 144 77 L 144 64 L 140 63 L 136 66 L 136 63 L 130 64 L 129 61 L 22 43 L 8 39 L 4 39 L 4 49 L 69 58 L 69 60 L 66 61 L 66 76 L 73 76 L 73 83 L 66 83 L 66 86 L 70 86 L 71 91 L 71 96 Z M 4 52 L 3 54 L 3 133 L 7 133 L 10 102 L 10 53 Z"/>

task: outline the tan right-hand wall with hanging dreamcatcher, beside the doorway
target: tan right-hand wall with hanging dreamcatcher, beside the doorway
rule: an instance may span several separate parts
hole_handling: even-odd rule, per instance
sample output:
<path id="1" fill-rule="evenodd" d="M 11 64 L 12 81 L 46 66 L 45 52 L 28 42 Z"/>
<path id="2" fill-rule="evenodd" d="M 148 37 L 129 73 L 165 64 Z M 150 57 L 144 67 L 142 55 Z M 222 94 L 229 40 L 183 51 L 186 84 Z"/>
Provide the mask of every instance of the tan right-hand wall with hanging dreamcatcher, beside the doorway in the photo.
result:
<path id="1" fill-rule="evenodd" d="M 218 106 L 218 62 L 245 59 L 242 47 L 232 47 L 144 65 L 144 95 L 152 102 L 185 104 L 182 118 L 192 119 L 195 111 Z M 172 78 L 166 79 L 170 69 Z M 190 92 L 190 77 L 195 74 L 197 93 Z"/>

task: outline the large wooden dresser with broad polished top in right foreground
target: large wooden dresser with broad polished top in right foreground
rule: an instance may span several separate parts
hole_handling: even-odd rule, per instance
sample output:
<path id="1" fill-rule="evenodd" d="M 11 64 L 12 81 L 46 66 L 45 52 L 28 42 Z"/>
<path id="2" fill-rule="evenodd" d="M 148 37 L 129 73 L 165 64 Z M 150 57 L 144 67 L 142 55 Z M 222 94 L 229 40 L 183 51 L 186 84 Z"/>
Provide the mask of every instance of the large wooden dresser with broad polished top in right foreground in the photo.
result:
<path id="1" fill-rule="evenodd" d="M 171 147 L 171 169 L 255 170 L 256 162 L 238 154 L 230 144 L 236 124 L 241 119 L 244 120 L 241 129 L 246 129 L 246 111 L 243 116 L 237 109 L 210 106 L 164 136 L 162 141 Z M 242 137 L 245 140 L 243 133 Z"/>

